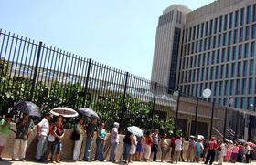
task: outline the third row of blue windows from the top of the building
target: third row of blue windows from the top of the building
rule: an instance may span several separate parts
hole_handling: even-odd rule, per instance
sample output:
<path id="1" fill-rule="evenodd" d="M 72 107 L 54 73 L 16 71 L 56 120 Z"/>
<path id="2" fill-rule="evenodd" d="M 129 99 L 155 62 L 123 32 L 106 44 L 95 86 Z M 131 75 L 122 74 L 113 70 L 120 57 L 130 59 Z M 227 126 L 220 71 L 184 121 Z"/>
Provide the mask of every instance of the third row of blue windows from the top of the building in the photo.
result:
<path id="1" fill-rule="evenodd" d="M 245 43 L 239 46 L 230 46 L 219 50 L 210 51 L 204 54 L 199 54 L 190 57 L 182 58 L 182 69 L 201 67 L 219 64 L 222 62 L 229 62 L 248 57 L 255 57 L 255 42 Z"/>

